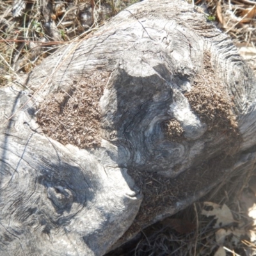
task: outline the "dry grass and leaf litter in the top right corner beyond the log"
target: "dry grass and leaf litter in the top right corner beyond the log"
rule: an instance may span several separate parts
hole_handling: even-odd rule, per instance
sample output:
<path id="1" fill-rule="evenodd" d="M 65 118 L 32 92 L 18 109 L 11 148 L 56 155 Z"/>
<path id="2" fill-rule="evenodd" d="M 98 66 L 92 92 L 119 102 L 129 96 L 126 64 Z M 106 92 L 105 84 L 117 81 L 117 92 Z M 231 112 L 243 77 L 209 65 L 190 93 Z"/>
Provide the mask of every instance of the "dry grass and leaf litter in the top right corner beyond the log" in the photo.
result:
<path id="1" fill-rule="evenodd" d="M 194 1 L 198 12 L 230 38 L 256 75 L 256 8 L 250 0 L 187 0 Z M 244 53 L 244 47 L 249 49 Z"/>

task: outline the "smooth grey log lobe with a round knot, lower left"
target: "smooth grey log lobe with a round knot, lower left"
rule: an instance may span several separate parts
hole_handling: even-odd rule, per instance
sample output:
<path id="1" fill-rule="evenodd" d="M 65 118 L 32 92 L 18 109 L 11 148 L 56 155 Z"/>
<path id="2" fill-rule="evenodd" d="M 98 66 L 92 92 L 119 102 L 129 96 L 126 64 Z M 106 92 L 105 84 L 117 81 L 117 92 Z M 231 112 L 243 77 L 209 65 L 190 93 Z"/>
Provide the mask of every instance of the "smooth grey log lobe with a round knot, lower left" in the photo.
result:
<path id="1" fill-rule="evenodd" d="M 1 124 L 28 99 L 12 88 L 0 97 Z M 141 196 L 106 151 L 93 156 L 40 134 L 29 105 L 0 135 L 1 255 L 102 255 Z"/>

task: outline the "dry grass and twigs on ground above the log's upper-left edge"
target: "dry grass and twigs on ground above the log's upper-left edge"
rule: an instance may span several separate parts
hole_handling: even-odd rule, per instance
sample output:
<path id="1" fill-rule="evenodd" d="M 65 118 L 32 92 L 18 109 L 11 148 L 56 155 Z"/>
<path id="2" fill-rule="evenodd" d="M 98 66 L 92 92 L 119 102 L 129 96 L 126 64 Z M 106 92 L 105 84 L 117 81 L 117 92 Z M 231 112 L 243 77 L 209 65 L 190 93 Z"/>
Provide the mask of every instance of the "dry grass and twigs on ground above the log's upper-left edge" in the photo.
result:
<path id="1" fill-rule="evenodd" d="M 46 0 L 20 0 L 19 7 L 15 1 L 0 1 L 0 86 L 22 81 L 20 75 L 33 70 L 58 47 L 84 38 L 138 1 L 49 1 L 49 9 L 42 8 Z"/>

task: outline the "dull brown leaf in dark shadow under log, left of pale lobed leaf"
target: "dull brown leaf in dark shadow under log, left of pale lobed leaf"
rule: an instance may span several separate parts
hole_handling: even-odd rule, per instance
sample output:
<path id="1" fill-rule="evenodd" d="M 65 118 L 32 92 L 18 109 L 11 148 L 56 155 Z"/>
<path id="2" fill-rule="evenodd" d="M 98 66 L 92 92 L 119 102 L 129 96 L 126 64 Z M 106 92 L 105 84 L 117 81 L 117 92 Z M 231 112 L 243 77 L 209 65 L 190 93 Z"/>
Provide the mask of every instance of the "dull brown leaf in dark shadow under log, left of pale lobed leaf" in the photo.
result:
<path id="1" fill-rule="evenodd" d="M 188 234 L 193 232 L 195 230 L 196 225 L 195 223 L 192 223 L 190 221 L 182 220 L 182 219 L 170 219 L 166 218 L 161 223 L 164 226 L 169 226 L 170 228 L 173 228 L 180 234 Z"/>

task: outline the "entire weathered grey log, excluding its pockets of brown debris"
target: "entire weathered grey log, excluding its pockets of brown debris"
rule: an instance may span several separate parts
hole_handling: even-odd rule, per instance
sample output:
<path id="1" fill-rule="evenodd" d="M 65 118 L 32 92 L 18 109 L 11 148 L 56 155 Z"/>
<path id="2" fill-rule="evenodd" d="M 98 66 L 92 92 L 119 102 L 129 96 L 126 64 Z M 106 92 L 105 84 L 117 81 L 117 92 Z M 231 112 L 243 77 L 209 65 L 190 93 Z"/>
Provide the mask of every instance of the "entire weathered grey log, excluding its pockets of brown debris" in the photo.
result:
<path id="1" fill-rule="evenodd" d="M 237 143 L 230 143 L 230 131 L 209 131 L 186 98 L 196 77 L 207 76 L 207 54 L 213 86 L 221 84 L 232 102 Z M 99 70 L 111 73 L 100 99 L 101 147 L 79 150 L 47 138 L 36 124 L 36 106 Z M 142 200 L 127 170 L 174 179 L 194 168 L 200 179 L 196 166 L 223 152 L 234 156 L 223 176 L 254 166 L 255 77 L 231 40 L 184 1 L 134 4 L 90 38 L 52 54 L 29 74 L 26 87 L 36 92 L 29 102 L 27 90 L 0 90 L 1 255 L 107 252 L 132 224 Z M 170 119 L 184 130 L 183 140 L 164 135 L 161 124 Z M 205 195 L 221 175 L 153 212 L 144 225 Z"/>

